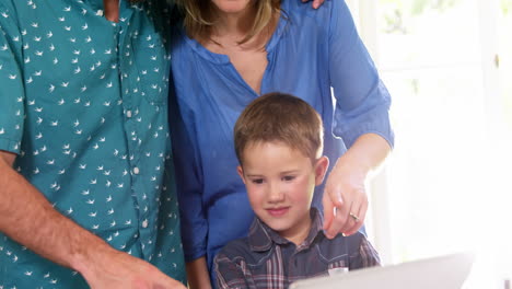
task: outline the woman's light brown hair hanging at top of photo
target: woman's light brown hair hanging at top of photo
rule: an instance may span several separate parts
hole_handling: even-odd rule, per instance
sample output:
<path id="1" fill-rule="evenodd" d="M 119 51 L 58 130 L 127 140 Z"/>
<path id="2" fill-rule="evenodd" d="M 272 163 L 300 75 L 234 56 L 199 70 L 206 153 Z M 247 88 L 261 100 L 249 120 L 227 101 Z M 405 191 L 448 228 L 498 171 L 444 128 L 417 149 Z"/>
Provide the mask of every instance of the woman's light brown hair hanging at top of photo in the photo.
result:
<path id="1" fill-rule="evenodd" d="M 175 0 L 183 11 L 184 25 L 187 35 L 191 38 L 210 39 L 211 30 L 216 24 L 214 3 L 211 0 Z M 240 44 L 246 43 L 258 35 L 271 23 L 276 12 L 279 12 L 281 0 L 251 0 L 255 5 L 256 15 L 254 23 Z"/>

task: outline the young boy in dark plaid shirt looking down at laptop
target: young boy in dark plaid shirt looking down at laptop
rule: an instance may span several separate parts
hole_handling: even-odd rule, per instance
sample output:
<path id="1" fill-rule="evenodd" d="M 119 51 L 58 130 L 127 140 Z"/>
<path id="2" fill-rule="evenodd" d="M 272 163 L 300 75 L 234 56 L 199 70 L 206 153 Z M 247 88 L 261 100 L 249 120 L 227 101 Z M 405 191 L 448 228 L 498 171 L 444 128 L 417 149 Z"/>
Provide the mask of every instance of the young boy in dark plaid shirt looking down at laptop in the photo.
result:
<path id="1" fill-rule="evenodd" d="M 380 264 L 359 232 L 328 240 L 311 207 L 329 165 L 322 155 L 323 130 L 315 109 L 288 94 L 263 95 L 242 113 L 234 128 L 237 171 L 257 218 L 247 238 L 217 255 L 218 288 L 288 288 L 337 268 Z"/>

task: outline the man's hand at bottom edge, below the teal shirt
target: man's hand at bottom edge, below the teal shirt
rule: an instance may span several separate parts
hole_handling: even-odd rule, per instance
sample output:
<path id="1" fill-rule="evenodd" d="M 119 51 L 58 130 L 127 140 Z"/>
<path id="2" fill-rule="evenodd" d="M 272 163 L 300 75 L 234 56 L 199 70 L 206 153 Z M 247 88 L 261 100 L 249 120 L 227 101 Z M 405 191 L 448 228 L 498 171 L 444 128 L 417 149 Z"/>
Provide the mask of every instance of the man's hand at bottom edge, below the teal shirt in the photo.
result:
<path id="1" fill-rule="evenodd" d="M 151 264 L 126 253 L 108 250 L 92 255 L 75 267 L 92 289 L 186 289 Z"/>

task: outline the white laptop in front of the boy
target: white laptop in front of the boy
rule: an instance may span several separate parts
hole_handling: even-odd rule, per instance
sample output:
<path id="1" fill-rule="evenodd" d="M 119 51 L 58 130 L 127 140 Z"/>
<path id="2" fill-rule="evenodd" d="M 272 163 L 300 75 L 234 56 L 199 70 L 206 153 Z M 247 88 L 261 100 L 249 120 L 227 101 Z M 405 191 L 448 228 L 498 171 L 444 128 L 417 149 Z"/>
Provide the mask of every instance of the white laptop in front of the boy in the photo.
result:
<path id="1" fill-rule="evenodd" d="M 293 282 L 290 289 L 459 289 L 474 255 L 458 253 Z"/>

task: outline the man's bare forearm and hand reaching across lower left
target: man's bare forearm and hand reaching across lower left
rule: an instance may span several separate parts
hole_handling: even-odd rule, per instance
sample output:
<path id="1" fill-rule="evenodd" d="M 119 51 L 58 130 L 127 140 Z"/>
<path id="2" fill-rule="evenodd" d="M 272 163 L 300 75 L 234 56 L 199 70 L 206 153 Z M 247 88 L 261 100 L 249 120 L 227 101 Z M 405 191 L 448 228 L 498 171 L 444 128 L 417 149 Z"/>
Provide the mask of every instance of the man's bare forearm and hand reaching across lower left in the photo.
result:
<path id="1" fill-rule="evenodd" d="M 149 263 L 110 247 L 60 215 L 0 151 L 0 231 L 45 258 L 82 274 L 91 288 L 185 288 Z"/>

